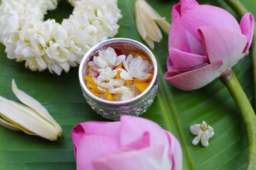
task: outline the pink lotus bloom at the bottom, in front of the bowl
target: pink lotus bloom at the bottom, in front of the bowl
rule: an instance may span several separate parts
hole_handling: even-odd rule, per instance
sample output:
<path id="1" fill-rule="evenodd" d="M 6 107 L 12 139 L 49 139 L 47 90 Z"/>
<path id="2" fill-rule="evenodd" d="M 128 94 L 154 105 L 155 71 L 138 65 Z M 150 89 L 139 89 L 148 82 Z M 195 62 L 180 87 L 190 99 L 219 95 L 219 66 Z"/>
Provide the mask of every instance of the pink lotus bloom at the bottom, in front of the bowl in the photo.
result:
<path id="1" fill-rule="evenodd" d="M 77 170 L 182 169 L 179 141 L 143 118 L 120 122 L 85 122 L 71 132 Z"/>

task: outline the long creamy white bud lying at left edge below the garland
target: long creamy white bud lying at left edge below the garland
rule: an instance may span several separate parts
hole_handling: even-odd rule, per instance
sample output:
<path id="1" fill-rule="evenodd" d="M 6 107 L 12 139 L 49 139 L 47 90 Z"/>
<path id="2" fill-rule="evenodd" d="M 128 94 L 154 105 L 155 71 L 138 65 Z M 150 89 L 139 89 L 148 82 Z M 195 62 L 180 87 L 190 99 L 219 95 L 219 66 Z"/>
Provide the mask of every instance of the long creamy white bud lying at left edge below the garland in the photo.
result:
<path id="1" fill-rule="evenodd" d="M 14 80 L 11 87 L 16 97 L 24 104 L 0 96 L 1 126 L 11 130 L 22 130 L 48 140 L 64 137 L 61 126 L 36 99 L 18 89 Z"/>

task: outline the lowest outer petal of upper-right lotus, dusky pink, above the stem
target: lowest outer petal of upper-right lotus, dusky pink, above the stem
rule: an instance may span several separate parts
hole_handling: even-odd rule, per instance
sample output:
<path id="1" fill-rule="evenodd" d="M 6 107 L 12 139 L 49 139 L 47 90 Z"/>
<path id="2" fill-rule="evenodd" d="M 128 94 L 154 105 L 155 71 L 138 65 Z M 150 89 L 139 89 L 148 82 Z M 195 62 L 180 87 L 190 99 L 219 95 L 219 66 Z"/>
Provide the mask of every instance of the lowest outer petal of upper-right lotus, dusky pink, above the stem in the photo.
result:
<path id="1" fill-rule="evenodd" d="M 179 89 L 199 89 L 220 76 L 221 73 L 218 69 L 220 69 L 222 65 L 223 62 L 220 60 L 205 67 L 175 76 L 172 76 L 172 71 L 168 71 L 165 73 L 164 79 Z"/>

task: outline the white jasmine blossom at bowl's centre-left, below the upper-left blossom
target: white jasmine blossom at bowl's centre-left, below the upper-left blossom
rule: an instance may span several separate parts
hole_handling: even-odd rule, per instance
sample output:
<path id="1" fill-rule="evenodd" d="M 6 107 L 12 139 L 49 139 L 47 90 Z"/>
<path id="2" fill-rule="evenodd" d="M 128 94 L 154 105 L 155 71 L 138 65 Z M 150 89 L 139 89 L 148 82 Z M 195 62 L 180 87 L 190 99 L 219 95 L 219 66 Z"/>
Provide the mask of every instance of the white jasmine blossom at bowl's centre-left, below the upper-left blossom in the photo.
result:
<path id="1" fill-rule="evenodd" d="M 111 91 L 114 89 L 114 87 L 121 87 L 125 84 L 125 81 L 122 79 L 114 79 L 114 77 L 117 75 L 117 70 L 112 70 L 110 67 L 107 67 L 106 69 L 99 69 L 98 72 L 100 75 L 95 78 L 93 77 L 94 83 L 99 85 L 97 88 L 101 91 Z"/>

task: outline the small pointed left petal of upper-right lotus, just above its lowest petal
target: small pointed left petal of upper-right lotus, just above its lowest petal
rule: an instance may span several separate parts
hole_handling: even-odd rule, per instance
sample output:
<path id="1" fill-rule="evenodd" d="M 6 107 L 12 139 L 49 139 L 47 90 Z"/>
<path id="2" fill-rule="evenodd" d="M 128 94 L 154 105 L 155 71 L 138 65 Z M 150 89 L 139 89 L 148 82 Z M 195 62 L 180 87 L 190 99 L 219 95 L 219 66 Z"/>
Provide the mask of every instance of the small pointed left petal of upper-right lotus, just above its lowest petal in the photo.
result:
<path id="1" fill-rule="evenodd" d="M 190 69 L 203 65 L 208 60 L 207 56 L 183 52 L 171 47 L 169 48 L 169 54 L 175 69 Z"/>

